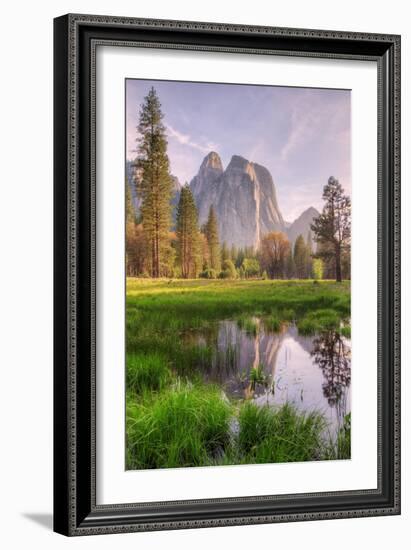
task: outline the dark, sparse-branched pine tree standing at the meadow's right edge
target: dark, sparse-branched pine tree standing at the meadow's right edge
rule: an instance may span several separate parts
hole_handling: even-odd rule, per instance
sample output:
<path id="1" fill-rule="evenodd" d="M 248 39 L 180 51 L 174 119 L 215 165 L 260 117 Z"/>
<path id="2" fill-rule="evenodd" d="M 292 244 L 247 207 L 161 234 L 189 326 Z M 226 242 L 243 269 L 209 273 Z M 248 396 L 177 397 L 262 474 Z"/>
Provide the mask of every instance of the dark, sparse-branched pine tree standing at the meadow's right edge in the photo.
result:
<path id="1" fill-rule="evenodd" d="M 335 279 L 342 281 L 342 259 L 349 253 L 351 244 L 351 199 L 337 179 L 330 177 L 324 187 L 325 206 L 322 213 L 313 219 L 311 229 L 318 243 L 316 256 L 330 258 L 335 266 Z"/>

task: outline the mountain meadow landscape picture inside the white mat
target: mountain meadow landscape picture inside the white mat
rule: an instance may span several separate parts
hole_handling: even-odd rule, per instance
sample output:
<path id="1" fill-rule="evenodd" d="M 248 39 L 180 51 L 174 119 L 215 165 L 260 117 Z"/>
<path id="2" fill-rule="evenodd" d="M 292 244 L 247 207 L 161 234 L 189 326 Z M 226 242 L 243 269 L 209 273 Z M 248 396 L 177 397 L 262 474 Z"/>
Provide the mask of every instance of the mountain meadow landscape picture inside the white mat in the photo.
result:
<path id="1" fill-rule="evenodd" d="M 351 90 L 124 85 L 126 470 L 349 460 Z"/>

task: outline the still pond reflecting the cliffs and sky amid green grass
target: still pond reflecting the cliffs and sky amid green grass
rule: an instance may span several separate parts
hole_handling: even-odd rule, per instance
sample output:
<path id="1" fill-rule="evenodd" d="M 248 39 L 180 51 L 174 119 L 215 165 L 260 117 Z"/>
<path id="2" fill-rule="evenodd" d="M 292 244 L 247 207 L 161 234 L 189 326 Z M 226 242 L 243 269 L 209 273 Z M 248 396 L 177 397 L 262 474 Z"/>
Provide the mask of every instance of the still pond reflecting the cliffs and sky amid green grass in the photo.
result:
<path id="1" fill-rule="evenodd" d="M 302 336 L 289 323 L 274 332 L 263 318 L 250 317 L 211 323 L 182 338 L 204 351 L 198 374 L 232 399 L 320 411 L 330 432 L 351 410 L 351 341 L 336 331 Z"/>

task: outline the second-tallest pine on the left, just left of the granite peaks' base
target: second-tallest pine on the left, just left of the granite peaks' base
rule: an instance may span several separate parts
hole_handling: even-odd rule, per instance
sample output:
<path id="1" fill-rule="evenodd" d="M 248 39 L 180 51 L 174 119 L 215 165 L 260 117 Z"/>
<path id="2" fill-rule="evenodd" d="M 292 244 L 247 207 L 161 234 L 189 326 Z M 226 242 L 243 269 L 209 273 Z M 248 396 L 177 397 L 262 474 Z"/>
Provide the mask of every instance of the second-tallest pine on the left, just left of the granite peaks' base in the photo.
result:
<path id="1" fill-rule="evenodd" d="M 197 207 L 186 183 L 181 189 L 176 217 L 177 261 L 185 279 L 196 277 L 202 267 L 199 233 Z"/>

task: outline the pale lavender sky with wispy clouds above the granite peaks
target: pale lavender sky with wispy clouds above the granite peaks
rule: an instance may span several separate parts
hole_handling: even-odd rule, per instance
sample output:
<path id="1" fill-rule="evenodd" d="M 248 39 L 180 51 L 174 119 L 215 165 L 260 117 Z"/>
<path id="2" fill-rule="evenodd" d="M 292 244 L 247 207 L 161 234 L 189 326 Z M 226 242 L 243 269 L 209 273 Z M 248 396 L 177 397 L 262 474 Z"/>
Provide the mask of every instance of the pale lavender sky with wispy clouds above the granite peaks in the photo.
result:
<path id="1" fill-rule="evenodd" d="M 351 92 L 153 80 L 126 80 L 126 156 L 136 157 L 139 111 L 154 86 L 168 137 L 171 172 L 190 182 L 203 158 L 233 155 L 270 171 L 280 210 L 292 222 L 322 209 L 330 176 L 351 194 Z"/>

